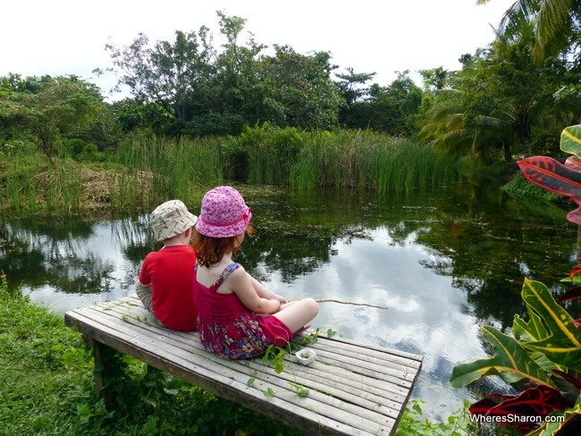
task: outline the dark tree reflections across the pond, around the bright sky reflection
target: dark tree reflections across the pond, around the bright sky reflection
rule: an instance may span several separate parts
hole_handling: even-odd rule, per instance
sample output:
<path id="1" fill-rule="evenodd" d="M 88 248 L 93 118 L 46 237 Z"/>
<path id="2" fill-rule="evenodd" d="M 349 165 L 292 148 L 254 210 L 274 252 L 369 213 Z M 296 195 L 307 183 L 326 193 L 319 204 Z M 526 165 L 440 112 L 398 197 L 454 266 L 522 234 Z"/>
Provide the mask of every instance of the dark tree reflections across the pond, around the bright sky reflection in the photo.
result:
<path id="1" fill-rule="evenodd" d="M 383 198 L 268 189 L 243 195 L 254 211 L 257 235 L 245 241 L 239 261 L 258 279 L 276 272 L 282 281 L 293 281 L 331 262 L 338 241 L 372 239 L 381 228 L 393 246 L 423 247 L 425 268 L 452 277 L 452 286 L 467 294 L 463 310 L 482 323 L 507 326 L 515 313 L 522 314 L 525 275 L 559 293 L 559 280 L 577 257 L 576 229 L 474 189 Z M 128 261 L 122 286 L 131 286 L 143 258 L 161 244 L 153 239 L 147 215 L 109 224 L 114 245 Z M 13 286 L 102 292 L 110 286 L 114 264 L 88 246 L 95 231 L 96 223 L 76 218 L 0 221 L 0 270 Z"/>

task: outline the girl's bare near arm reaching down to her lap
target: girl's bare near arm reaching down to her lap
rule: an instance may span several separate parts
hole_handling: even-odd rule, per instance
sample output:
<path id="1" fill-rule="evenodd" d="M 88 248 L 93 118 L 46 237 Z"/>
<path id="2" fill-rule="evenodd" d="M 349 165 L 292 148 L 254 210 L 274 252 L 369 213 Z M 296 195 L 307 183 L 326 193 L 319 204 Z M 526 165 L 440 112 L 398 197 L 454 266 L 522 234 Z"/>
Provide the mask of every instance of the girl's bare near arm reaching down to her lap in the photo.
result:
<path id="1" fill-rule="evenodd" d="M 257 314 L 274 314 L 282 306 L 280 299 L 274 298 L 274 293 L 260 285 L 261 292 L 264 289 L 268 292 L 265 297 L 258 294 L 257 289 L 253 286 L 253 279 L 248 272 L 242 267 L 232 272 L 224 281 L 224 285 L 234 292 L 248 310 Z M 257 282 L 257 281 L 256 281 Z M 270 296 L 273 296 L 272 298 Z"/>

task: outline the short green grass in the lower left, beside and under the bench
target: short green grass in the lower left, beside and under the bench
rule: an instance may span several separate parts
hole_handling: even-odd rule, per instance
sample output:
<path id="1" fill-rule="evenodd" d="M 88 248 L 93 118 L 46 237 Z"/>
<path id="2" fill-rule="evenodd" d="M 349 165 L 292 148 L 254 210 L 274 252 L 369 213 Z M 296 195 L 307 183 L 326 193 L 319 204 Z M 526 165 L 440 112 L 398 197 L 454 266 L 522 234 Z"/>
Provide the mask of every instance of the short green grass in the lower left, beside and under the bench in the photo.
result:
<path id="1" fill-rule="evenodd" d="M 0 282 L 0 434 L 3 435 L 295 435 L 115 353 L 120 372 L 94 393 L 93 362 L 63 317 L 11 294 Z"/>

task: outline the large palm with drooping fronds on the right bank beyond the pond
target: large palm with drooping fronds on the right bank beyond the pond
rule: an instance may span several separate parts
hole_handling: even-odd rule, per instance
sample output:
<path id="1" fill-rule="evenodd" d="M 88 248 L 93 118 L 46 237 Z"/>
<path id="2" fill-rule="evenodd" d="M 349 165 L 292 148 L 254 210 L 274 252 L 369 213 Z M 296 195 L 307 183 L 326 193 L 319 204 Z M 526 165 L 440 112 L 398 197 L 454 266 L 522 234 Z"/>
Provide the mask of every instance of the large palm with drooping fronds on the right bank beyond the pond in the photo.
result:
<path id="1" fill-rule="evenodd" d="M 527 23 L 514 40 L 497 33 L 493 44 L 450 80 L 450 88 L 435 91 L 419 138 L 486 164 L 501 150 L 511 164 L 513 154 L 530 153 L 535 127 L 556 130 L 553 94 L 562 62 L 541 68 L 531 61 L 533 31 Z"/>

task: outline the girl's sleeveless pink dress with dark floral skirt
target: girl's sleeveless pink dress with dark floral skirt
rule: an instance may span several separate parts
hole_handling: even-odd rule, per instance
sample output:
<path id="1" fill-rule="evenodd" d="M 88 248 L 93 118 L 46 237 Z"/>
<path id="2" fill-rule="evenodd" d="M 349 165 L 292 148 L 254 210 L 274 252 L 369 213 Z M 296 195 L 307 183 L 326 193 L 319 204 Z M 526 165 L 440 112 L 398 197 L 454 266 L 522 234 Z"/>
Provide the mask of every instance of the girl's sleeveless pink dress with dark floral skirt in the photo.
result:
<path id="1" fill-rule="evenodd" d="M 292 331 L 275 316 L 249 311 L 234 293 L 216 292 L 226 277 L 239 267 L 240 264 L 228 264 L 209 288 L 194 281 L 197 330 L 202 345 L 229 359 L 260 356 L 271 345 L 284 347 L 292 339 Z"/>

